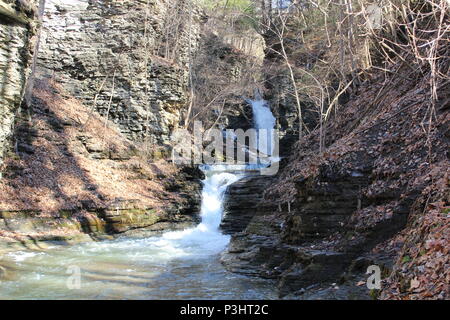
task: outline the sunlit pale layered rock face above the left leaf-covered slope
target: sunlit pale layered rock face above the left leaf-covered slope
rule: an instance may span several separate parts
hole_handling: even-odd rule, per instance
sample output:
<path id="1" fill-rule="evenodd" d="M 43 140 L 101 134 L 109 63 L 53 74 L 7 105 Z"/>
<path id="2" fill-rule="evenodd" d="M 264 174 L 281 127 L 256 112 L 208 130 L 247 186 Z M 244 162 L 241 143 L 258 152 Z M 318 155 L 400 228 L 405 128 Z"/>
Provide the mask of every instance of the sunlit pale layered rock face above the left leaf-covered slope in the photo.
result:
<path id="1" fill-rule="evenodd" d="M 191 8 L 191 23 L 177 25 L 169 56 L 170 1 L 48 0 L 40 74 L 63 83 L 131 139 L 167 143 L 183 117 L 189 53 L 200 36 L 201 14 L 189 0 L 180 5 Z"/>

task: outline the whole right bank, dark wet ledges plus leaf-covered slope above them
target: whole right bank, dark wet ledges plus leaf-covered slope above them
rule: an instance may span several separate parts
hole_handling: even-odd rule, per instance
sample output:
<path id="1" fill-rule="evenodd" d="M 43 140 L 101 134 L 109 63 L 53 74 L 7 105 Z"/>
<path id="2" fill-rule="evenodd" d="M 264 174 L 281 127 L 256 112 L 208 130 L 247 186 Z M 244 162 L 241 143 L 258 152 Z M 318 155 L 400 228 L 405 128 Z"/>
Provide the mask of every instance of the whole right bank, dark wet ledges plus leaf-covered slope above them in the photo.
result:
<path id="1" fill-rule="evenodd" d="M 318 131 L 297 143 L 278 177 L 266 178 L 264 199 L 245 197 L 251 180 L 230 189 L 228 201 L 243 207 L 230 213 L 245 228 L 226 226 L 227 268 L 279 279 L 282 296 L 352 299 L 370 298 L 365 272 L 377 265 L 373 296 L 448 296 L 448 91 L 424 131 L 431 75 L 403 72 L 392 87 L 381 73 L 361 84 L 328 128 L 327 150 L 317 150 Z"/>

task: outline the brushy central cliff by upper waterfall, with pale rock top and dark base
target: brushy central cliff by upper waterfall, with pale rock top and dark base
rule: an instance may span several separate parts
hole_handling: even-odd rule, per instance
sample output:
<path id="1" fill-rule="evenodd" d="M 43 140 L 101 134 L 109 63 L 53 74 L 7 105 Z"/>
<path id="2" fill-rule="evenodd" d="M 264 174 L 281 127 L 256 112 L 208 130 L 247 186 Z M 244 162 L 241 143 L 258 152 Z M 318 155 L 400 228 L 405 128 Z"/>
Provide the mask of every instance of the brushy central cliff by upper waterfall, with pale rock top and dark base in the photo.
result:
<path id="1" fill-rule="evenodd" d="M 264 38 L 256 31 L 239 33 L 217 17 L 208 19 L 193 59 L 195 120 L 221 129 L 253 127 L 245 98 L 262 80 L 264 50 Z"/>

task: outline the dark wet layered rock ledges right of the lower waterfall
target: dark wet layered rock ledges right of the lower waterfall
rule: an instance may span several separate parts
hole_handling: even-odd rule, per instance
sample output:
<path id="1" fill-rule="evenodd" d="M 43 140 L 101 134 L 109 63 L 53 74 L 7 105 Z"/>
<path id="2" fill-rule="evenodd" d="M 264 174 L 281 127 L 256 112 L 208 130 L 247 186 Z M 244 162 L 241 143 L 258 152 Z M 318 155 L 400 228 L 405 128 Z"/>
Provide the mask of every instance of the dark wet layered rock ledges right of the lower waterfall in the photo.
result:
<path id="1" fill-rule="evenodd" d="M 286 205 L 277 208 L 263 199 L 270 179 L 249 177 L 232 185 L 224 226 L 233 236 L 222 263 L 233 272 L 277 279 L 280 297 L 295 293 L 301 299 L 370 298 L 355 283 L 364 277 L 363 269 L 372 260 L 357 259 L 358 255 L 398 231 L 404 221 L 380 222 L 364 234 L 348 225 L 354 212 L 368 204 L 360 190 L 367 186 L 369 176 L 370 166 L 358 169 L 358 174 L 323 167 L 317 176 L 298 179 L 296 201 L 287 212 L 280 211 Z M 228 216 L 227 220 L 230 213 L 233 219 Z M 345 231 L 348 236 L 328 240 Z M 307 289 L 310 286 L 316 287 Z"/>

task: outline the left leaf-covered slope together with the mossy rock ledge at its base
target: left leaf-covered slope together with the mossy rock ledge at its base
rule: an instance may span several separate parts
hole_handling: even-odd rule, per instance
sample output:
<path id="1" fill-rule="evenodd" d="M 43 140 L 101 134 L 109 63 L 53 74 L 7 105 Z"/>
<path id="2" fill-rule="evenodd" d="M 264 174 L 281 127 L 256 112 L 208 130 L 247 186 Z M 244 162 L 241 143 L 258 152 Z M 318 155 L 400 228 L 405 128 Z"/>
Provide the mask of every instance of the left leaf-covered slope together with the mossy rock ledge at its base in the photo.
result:
<path id="1" fill-rule="evenodd" d="M 31 120 L 0 180 L 0 250 L 183 228 L 198 221 L 201 175 L 149 161 L 60 85 L 35 81 Z"/>

